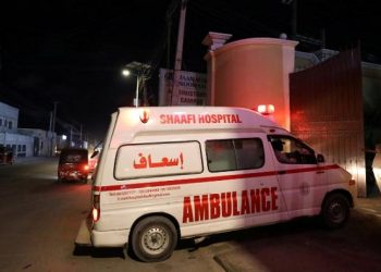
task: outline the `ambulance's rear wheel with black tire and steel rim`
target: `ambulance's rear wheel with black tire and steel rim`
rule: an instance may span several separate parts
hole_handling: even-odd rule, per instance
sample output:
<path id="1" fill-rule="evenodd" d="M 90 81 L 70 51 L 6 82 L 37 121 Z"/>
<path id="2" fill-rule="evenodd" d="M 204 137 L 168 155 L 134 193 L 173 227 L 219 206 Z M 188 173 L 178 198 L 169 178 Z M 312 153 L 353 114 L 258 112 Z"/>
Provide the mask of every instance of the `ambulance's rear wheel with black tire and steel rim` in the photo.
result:
<path id="1" fill-rule="evenodd" d="M 163 217 L 143 219 L 132 233 L 132 250 L 144 262 L 168 259 L 177 244 L 173 223 Z"/>

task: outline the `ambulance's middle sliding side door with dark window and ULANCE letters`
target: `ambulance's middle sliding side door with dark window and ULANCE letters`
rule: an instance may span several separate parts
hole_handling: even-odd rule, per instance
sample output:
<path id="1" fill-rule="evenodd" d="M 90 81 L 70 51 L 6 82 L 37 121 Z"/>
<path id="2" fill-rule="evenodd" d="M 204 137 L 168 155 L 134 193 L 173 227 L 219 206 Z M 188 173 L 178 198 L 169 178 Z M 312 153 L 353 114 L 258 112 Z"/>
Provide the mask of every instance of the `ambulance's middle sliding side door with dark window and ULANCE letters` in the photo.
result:
<path id="1" fill-rule="evenodd" d="M 210 193 L 220 197 L 220 222 L 229 227 L 279 222 L 285 211 L 266 136 L 245 136 L 206 141 L 208 170 L 220 180 Z"/>

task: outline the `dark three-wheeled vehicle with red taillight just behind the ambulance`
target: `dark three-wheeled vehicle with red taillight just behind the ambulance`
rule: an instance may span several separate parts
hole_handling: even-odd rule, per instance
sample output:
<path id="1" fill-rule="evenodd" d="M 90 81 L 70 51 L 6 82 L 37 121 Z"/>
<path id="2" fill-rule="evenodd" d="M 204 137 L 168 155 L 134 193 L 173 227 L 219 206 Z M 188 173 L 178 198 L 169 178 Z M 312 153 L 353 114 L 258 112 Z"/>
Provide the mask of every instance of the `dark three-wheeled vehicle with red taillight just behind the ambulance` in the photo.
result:
<path id="1" fill-rule="evenodd" d="M 58 165 L 59 181 L 87 182 L 88 151 L 82 148 L 62 149 Z"/>

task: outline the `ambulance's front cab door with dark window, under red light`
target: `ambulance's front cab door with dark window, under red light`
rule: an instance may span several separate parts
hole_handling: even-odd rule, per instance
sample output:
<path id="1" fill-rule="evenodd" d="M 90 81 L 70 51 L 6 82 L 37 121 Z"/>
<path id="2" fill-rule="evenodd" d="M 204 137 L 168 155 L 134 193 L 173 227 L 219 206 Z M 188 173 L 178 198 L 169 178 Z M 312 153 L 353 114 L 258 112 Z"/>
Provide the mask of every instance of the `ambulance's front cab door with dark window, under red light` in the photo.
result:
<path id="1" fill-rule="evenodd" d="M 327 173 L 319 166 L 315 151 L 292 136 L 271 135 L 268 139 L 288 215 L 320 212 L 327 193 Z"/>

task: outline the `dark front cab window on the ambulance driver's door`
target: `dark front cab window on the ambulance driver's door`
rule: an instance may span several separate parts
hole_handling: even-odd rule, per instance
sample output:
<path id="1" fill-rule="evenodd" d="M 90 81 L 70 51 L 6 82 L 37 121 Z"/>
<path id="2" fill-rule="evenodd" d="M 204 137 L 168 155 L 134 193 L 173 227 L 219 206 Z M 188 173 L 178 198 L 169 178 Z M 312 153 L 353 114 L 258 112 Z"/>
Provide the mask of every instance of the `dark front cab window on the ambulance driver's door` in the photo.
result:
<path id="1" fill-rule="evenodd" d="M 303 141 L 290 136 L 271 135 L 269 140 L 275 158 L 286 164 L 316 164 L 315 151 Z"/>

